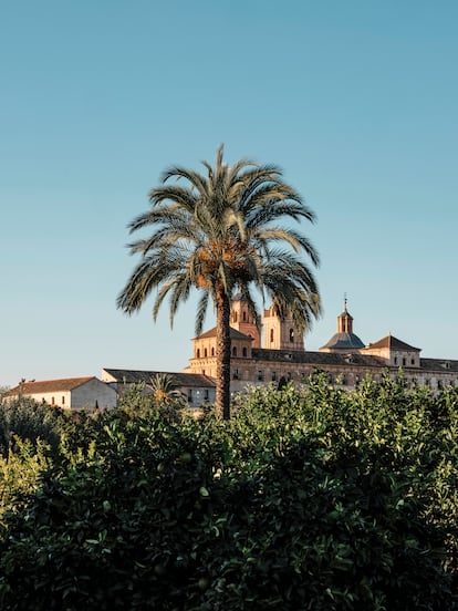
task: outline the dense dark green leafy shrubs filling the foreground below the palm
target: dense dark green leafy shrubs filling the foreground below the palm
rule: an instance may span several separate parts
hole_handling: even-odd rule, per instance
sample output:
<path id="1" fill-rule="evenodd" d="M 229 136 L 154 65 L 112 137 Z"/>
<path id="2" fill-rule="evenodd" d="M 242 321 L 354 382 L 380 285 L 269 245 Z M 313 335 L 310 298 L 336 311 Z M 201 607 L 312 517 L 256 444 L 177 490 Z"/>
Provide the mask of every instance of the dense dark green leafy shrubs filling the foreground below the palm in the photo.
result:
<path id="1" fill-rule="evenodd" d="M 3 516 L 1 608 L 456 608 L 457 390 L 318 376 L 233 407 L 69 420 Z"/>

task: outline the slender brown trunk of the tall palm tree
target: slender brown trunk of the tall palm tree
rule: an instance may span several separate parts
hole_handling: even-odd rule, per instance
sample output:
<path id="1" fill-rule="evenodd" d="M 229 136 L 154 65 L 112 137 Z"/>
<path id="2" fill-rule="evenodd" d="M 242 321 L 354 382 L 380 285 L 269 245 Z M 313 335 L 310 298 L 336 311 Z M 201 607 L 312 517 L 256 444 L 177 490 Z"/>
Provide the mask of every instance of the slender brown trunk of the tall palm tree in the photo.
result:
<path id="1" fill-rule="evenodd" d="M 222 287 L 216 290 L 217 387 L 216 406 L 223 420 L 230 418 L 230 306 Z"/>

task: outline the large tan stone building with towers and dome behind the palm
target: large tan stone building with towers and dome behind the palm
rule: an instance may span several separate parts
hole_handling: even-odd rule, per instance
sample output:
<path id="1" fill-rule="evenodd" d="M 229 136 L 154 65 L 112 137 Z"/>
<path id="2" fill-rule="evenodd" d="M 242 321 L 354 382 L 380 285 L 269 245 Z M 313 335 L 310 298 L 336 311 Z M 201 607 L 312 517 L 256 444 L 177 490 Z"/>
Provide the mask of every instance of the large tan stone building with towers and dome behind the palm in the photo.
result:
<path id="1" fill-rule="evenodd" d="M 320 351 L 308 351 L 291 320 L 280 320 L 273 309 L 264 311 L 263 334 L 252 330 L 252 318 L 244 313 L 246 304 L 236 302 L 237 315 L 231 317 L 231 392 L 247 384 L 279 384 L 281 381 L 303 382 L 310 374 L 324 371 L 330 383 L 355 387 L 369 375 L 379 381 L 387 372 L 393 377 L 431 389 L 458 384 L 458 361 L 420 358 L 414 348 L 394 335 L 365 345 L 353 332 L 353 318 L 346 309 L 337 317 L 337 332 Z M 248 332 L 246 332 L 248 331 Z M 216 328 L 192 340 L 192 358 L 186 372 L 216 377 Z M 260 348 L 261 344 L 263 348 Z M 274 348 L 270 348 L 274 346 Z"/>

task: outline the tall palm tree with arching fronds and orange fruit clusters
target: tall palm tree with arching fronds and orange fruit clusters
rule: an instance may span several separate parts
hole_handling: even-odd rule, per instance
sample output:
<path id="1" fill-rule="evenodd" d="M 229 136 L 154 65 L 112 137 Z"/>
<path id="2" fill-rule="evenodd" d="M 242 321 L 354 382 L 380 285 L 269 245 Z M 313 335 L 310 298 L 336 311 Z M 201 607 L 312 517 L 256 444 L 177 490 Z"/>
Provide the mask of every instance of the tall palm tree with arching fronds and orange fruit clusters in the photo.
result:
<path id="1" fill-rule="evenodd" d="M 160 186 L 149 193 L 150 209 L 129 224 L 131 232 L 150 228 L 149 237 L 129 245 L 131 255 L 142 259 L 117 298 L 127 314 L 138 311 L 153 289 L 154 320 L 168 296 L 170 327 L 180 302 L 191 289 L 201 297 L 196 317 L 196 334 L 202 330 L 209 300 L 217 319 L 216 404 L 230 417 L 230 335 L 232 296 L 247 300 L 260 324 L 254 291 L 268 297 L 280 317 L 291 315 L 305 331 L 321 310 L 314 276 L 304 255 L 314 266 L 319 256 L 298 230 L 283 220 L 314 221 L 313 211 L 282 179 L 274 165 L 241 159 L 223 163 L 222 145 L 215 167 L 202 162 L 206 174 L 171 167 Z M 185 182 L 178 185 L 177 182 Z M 170 184 L 170 180 L 174 180 Z"/>

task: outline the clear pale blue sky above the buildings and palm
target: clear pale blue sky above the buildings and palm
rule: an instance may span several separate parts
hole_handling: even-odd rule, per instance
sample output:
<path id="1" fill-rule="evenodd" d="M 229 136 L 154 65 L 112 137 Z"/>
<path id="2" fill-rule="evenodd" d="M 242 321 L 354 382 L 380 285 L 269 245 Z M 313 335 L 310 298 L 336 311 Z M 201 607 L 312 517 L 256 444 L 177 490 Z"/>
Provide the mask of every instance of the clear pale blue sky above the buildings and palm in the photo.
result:
<path id="1" fill-rule="evenodd" d="M 153 299 L 117 310 L 126 226 L 219 144 L 316 214 L 308 350 L 346 294 L 364 343 L 458 359 L 457 22 L 454 0 L 0 0 L 0 385 L 183 371 L 197 294 L 171 330 Z"/>

